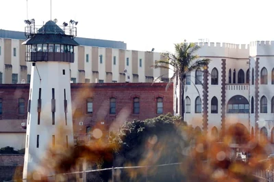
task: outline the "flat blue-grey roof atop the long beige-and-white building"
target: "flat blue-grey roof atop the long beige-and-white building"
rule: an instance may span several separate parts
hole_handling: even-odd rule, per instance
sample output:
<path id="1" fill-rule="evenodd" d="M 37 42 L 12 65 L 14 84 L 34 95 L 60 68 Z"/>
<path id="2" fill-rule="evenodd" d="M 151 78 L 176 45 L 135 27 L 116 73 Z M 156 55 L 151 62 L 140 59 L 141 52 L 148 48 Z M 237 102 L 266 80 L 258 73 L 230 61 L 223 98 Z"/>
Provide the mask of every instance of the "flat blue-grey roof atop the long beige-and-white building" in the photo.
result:
<path id="1" fill-rule="evenodd" d="M 8 30 L 0 29 L 0 37 L 8 38 L 8 39 L 26 40 L 25 32 L 22 32 L 22 31 L 8 31 Z M 82 46 L 127 49 L 127 44 L 121 41 L 99 40 L 99 39 L 90 39 L 90 38 L 84 38 L 84 37 L 75 37 L 75 41 Z"/>

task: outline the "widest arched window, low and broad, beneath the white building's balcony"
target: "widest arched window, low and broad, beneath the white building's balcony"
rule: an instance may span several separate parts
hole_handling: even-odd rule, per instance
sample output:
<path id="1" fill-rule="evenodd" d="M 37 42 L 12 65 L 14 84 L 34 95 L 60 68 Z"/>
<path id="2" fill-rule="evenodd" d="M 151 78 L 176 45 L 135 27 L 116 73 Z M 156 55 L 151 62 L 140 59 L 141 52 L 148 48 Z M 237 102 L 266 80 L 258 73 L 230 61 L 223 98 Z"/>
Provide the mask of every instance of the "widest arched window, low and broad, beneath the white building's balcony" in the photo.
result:
<path id="1" fill-rule="evenodd" d="M 227 102 L 227 113 L 249 113 L 249 102 L 242 95 L 235 95 Z"/>

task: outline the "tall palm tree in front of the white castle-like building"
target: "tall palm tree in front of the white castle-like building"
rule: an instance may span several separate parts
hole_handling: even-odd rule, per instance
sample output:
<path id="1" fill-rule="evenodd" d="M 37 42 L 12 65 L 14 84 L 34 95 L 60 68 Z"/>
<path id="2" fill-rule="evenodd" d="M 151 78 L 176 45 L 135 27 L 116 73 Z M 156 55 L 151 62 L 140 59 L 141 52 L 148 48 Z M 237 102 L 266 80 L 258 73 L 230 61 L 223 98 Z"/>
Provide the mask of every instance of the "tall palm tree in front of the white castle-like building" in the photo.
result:
<path id="1" fill-rule="evenodd" d="M 182 86 L 180 88 L 182 93 L 182 97 L 181 97 L 182 121 L 184 121 L 184 110 L 185 110 L 184 89 L 186 85 L 186 79 L 190 79 L 190 78 L 187 78 L 186 75 L 195 70 L 201 70 L 201 72 L 204 72 L 204 70 L 202 71 L 202 69 L 207 67 L 208 63 L 210 62 L 210 59 L 200 59 L 199 55 L 195 55 L 195 52 L 199 50 L 199 48 L 200 47 L 197 46 L 197 44 L 195 43 L 187 44 L 184 42 L 180 44 L 175 44 L 175 54 L 171 52 L 165 52 L 164 57 L 166 59 L 155 61 L 155 65 L 153 65 L 153 67 L 155 68 L 160 67 L 160 68 L 165 68 L 173 71 L 173 75 L 169 79 L 169 83 L 166 85 L 166 89 L 169 88 L 169 85 L 171 84 L 171 82 L 173 82 L 175 78 L 176 80 L 179 80 L 180 85 Z M 164 75 L 159 76 L 155 80 L 162 78 L 162 76 Z M 192 82 L 192 80 L 189 80 L 189 81 Z M 197 89 L 196 86 L 195 88 Z"/>

